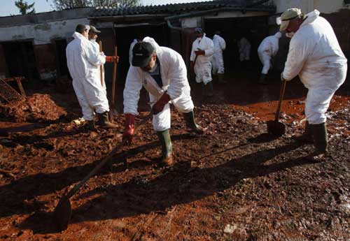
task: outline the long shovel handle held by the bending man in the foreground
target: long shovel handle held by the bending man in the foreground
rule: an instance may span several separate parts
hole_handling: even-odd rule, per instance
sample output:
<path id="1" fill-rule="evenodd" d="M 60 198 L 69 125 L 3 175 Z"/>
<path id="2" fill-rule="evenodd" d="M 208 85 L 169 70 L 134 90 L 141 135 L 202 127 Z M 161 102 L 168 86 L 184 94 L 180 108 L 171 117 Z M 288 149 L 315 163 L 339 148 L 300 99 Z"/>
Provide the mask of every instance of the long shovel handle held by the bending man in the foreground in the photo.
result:
<path id="1" fill-rule="evenodd" d="M 141 122 L 135 127 L 134 131 L 139 130 L 139 128 L 141 126 L 143 126 L 146 122 L 148 122 L 148 119 L 151 119 L 151 117 L 153 116 L 153 113 L 150 112 L 146 117 L 144 117 L 144 119 L 141 120 Z M 93 175 L 95 175 L 99 169 L 101 169 L 108 161 L 111 160 L 111 158 L 116 154 L 116 152 L 118 151 L 118 149 L 120 147 L 123 147 L 123 145 L 125 145 L 125 143 L 127 142 L 127 139 L 123 140 L 121 143 L 119 143 L 118 145 L 116 145 L 116 147 L 114 147 L 111 152 L 109 152 L 109 154 L 97 165 L 95 166 L 95 168 L 86 175 L 86 177 L 84 177 L 83 180 L 81 180 L 78 184 L 76 184 L 76 186 L 74 186 L 71 191 L 69 191 L 69 193 L 67 193 L 66 198 L 69 199 L 71 198 L 71 196 L 74 195 L 74 193 L 76 193 L 76 191 L 78 191 L 80 189 L 80 187 L 83 187 L 83 185 L 85 184 L 85 182 L 87 182 L 87 180 L 90 179 L 90 177 L 92 177 Z"/>

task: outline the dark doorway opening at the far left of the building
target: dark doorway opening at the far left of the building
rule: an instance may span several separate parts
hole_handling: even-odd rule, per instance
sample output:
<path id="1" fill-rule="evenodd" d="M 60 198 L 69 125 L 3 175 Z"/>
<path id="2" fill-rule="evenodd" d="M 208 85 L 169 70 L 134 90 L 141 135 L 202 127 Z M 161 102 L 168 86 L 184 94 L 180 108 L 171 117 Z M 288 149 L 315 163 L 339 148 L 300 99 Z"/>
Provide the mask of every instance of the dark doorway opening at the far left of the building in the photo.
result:
<path id="1" fill-rule="evenodd" d="M 10 77 L 24 76 L 29 80 L 39 78 L 31 41 L 4 42 L 2 45 Z"/>

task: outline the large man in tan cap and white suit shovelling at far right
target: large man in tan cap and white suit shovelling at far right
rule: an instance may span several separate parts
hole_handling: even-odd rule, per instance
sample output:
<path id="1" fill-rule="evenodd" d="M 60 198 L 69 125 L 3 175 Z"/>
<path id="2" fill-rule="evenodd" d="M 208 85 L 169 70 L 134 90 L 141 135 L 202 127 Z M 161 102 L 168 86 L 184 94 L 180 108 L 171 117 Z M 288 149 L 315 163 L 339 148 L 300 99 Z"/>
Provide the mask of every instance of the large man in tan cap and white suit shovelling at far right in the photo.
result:
<path id="1" fill-rule="evenodd" d="M 281 31 L 292 36 L 286 66 L 281 80 L 299 75 L 307 89 L 305 103 L 305 131 L 297 139 L 313 140 L 314 160 L 328 152 L 325 112 L 335 91 L 346 78 L 346 58 L 339 47 L 330 23 L 319 16 L 318 10 L 304 15 L 298 8 L 290 8 L 281 15 Z"/>

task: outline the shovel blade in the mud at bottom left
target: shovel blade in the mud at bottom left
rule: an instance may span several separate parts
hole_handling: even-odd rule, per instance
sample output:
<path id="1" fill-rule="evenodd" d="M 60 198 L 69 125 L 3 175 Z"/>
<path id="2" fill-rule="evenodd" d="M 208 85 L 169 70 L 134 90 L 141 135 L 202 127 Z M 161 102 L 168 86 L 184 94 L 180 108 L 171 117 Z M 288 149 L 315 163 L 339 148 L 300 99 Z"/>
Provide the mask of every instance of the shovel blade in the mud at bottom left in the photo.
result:
<path id="1" fill-rule="evenodd" d="M 71 220 L 71 202 L 69 198 L 63 196 L 53 212 L 53 222 L 56 224 L 59 231 L 64 231 L 68 227 L 69 221 Z"/>

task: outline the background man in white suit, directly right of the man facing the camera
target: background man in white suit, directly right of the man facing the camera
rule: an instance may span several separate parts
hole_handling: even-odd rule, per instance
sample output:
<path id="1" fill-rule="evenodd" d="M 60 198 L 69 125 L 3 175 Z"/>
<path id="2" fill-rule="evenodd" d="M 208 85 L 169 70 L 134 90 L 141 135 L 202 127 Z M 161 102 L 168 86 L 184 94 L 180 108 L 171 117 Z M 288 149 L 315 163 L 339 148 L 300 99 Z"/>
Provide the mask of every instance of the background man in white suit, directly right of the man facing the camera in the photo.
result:
<path id="1" fill-rule="evenodd" d="M 221 32 L 216 31 L 213 36 L 214 54 L 213 59 L 211 59 L 211 64 L 213 65 L 213 74 L 218 75 L 218 82 L 225 84 L 226 81 L 223 80 L 223 74 L 225 73 L 223 50 L 226 49 L 226 42 L 220 35 Z"/>

